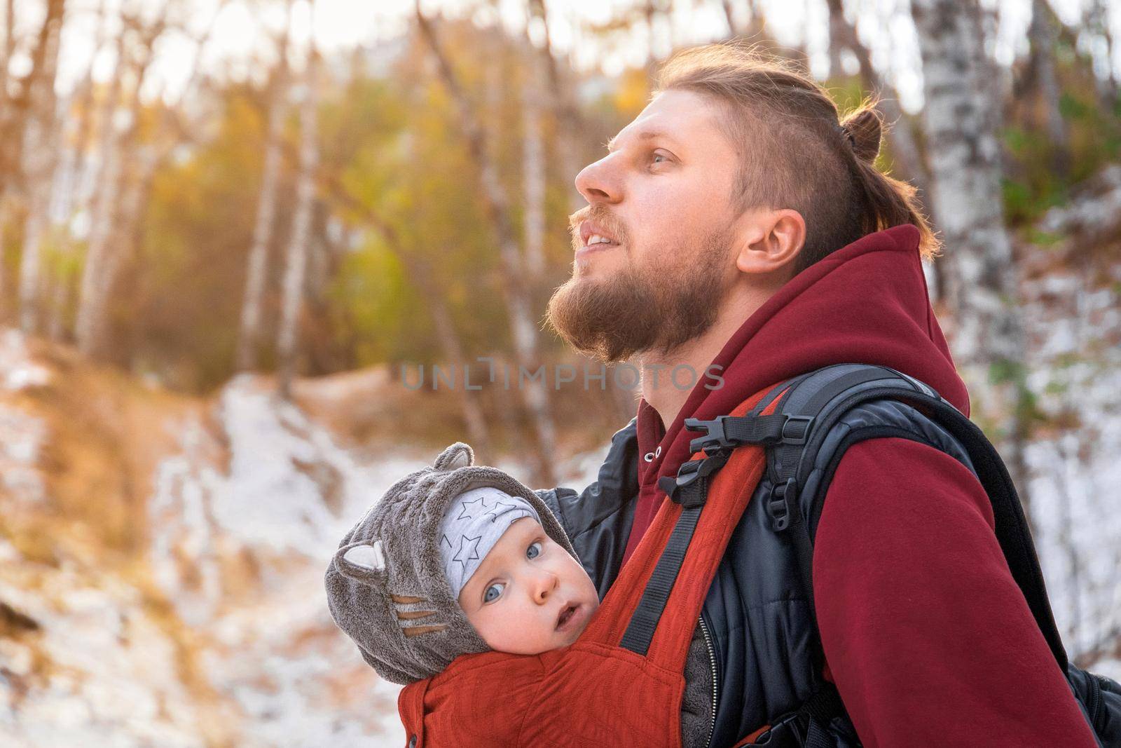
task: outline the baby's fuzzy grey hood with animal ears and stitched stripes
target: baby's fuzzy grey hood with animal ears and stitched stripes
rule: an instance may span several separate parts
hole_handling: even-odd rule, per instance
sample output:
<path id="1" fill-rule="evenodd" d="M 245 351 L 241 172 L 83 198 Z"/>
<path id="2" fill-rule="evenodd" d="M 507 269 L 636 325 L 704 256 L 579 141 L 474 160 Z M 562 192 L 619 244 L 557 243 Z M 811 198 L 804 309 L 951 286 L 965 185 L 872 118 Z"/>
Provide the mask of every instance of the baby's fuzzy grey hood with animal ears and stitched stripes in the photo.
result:
<path id="1" fill-rule="evenodd" d="M 473 462 L 471 447 L 456 442 L 432 468 L 393 483 L 342 539 L 327 567 L 324 583 L 335 624 L 392 683 L 424 680 L 458 655 L 489 650 L 456 602 L 441 552 L 445 515 L 461 493 L 490 487 L 525 501 L 546 534 L 576 557 L 534 491 Z"/>

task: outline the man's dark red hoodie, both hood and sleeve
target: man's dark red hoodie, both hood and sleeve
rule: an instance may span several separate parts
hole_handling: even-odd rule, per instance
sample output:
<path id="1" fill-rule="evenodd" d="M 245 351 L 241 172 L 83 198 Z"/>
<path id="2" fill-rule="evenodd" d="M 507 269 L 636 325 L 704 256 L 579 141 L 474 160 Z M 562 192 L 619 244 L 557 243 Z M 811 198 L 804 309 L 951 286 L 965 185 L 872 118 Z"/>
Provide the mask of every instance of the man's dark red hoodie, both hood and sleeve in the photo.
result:
<path id="1" fill-rule="evenodd" d="M 689 459 L 684 418 L 850 362 L 917 377 L 969 414 L 915 227 L 869 234 L 786 284 L 713 360 L 723 386 L 702 379 L 668 430 L 639 404 L 639 454 L 651 460 L 639 458 L 626 557 L 663 500 L 658 478 Z M 984 489 L 953 458 L 899 438 L 851 447 L 817 528 L 814 597 L 830 673 L 865 746 L 1096 745 L 1008 570 Z"/>

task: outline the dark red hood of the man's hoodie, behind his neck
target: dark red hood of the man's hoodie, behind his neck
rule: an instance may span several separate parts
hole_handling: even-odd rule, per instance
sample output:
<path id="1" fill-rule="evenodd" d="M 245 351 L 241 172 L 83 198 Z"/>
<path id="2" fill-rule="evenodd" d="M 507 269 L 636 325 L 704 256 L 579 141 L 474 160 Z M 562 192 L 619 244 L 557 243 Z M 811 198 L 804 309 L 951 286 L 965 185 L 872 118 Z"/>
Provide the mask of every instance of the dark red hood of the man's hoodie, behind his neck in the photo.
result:
<path id="1" fill-rule="evenodd" d="M 626 557 L 691 456 L 684 419 L 726 415 L 754 393 L 833 363 L 872 363 L 908 373 L 969 415 L 969 395 L 930 308 L 919 233 L 899 225 L 868 234 L 799 273 L 729 339 L 712 363 L 723 386 L 701 378 L 668 427 L 639 401 L 639 499 Z M 647 459 L 649 458 L 649 459 Z"/>

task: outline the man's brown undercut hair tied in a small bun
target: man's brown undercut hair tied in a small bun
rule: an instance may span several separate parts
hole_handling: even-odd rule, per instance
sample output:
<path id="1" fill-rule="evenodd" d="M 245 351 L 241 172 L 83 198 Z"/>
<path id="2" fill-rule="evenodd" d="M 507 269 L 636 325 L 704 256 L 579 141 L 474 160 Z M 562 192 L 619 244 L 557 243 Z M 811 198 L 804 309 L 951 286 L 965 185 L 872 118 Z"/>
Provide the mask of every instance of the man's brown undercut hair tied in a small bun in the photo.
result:
<path id="1" fill-rule="evenodd" d="M 802 271 L 861 237 L 904 223 L 918 228 L 924 258 L 939 242 L 915 187 L 876 167 L 883 119 L 865 100 L 841 117 L 828 92 L 793 63 L 738 43 L 683 50 L 661 67 L 654 96 L 707 95 L 739 156 L 732 195 L 739 211 L 798 211 L 806 243 Z"/>

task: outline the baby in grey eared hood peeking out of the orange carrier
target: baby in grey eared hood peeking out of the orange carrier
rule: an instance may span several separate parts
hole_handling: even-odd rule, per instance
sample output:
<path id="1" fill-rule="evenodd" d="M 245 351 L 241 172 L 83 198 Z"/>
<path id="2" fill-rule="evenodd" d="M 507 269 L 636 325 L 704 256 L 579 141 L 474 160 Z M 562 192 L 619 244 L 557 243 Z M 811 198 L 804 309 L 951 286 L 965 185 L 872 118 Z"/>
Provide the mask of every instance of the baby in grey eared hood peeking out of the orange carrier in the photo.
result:
<path id="1" fill-rule="evenodd" d="M 381 677 L 408 684 L 460 655 L 566 647 L 600 600 L 545 502 L 507 473 L 474 467 L 456 443 L 406 475 L 342 539 L 325 584 L 339 627 Z M 683 745 L 712 720 L 703 640 L 694 637 Z"/>

